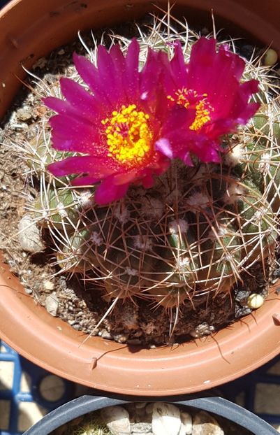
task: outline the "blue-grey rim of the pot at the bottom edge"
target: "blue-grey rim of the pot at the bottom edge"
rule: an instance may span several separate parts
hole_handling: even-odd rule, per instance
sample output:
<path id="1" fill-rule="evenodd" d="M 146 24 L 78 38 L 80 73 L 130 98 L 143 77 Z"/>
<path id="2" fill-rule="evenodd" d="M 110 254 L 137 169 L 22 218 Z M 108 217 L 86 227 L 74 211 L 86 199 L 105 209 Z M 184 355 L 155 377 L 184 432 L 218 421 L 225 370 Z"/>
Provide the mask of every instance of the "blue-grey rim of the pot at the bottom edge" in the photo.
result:
<path id="1" fill-rule="evenodd" d="M 198 399 L 187 399 L 172 402 L 175 405 L 191 406 L 194 411 L 207 411 L 226 418 L 255 435 L 277 435 L 276 429 L 273 429 L 267 422 L 257 415 L 246 409 L 233 404 L 232 402 L 221 399 L 221 397 L 200 397 Z M 82 415 L 98 411 L 107 406 L 116 406 L 129 403 L 126 400 L 109 399 L 108 397 L 82 396 L 78 399 L 69 401 L 67 404 L 59 406 L 51 413 L 47 414 L 36 425 L 32 426 L 23 435 L 48 435 L 62 425 L 71 423 L 75 418 Z"/>

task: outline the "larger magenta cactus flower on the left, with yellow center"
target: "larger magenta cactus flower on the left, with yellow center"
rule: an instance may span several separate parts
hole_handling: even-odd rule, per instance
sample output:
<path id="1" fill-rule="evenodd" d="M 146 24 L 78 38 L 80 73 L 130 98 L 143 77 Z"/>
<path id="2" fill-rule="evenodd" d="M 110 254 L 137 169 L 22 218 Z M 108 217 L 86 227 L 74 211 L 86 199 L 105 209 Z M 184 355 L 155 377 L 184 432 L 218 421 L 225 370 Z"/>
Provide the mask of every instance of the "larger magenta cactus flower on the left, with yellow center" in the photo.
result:
<path id="1" fill-rule="evenodd" d="M 126 57 L 119 45 L 110 52 L 99 45 L 97 67 L 74 55 L 89 91 L 61 78 L 65 100 L 44 100 L 58 113 L 50 119 L 54 148 L 83 154 L 54 162 L 48 169 L 55 176 L 78 174 L 74 185 L 101 182 L 95 193 L 98 204 L 123 197 L 131 183 L 151 187 L 153 174 L 169 166 L 169 159 L 155 148 L 168 108 L 159 85 L 165 54 L 149 50 L 145 66 L 138 71 L 139 51 L 135 39 Z"/>

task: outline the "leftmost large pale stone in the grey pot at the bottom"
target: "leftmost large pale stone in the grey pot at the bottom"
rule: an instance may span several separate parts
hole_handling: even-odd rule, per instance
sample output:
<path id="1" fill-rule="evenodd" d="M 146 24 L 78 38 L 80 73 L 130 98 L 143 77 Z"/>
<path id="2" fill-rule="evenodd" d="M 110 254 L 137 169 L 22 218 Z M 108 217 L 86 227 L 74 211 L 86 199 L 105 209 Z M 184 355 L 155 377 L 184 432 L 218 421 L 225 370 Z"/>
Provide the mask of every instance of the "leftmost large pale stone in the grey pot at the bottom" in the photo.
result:
<path id="1" fill-rule="evenodd" d="M 101 409 L 101 417 L 112 435 L 131 434 L 129 414 L 122 406 L 108 406 Z"/>

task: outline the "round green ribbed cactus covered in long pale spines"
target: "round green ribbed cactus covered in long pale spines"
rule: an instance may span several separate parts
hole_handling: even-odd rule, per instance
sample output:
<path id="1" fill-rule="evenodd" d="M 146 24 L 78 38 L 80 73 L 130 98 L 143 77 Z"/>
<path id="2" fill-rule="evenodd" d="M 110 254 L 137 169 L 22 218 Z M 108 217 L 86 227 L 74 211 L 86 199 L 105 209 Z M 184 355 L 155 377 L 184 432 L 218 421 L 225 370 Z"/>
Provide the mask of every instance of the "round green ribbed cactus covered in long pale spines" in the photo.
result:
<path id="1" fill-rule="evenodd" d="M 190 32 L 186 41 L 186 26 L 180 24 L 180 30 L 163 29 L 164 20 L 154 17 L 152 33 L 141 37 L 143 63 L 149 45 L 172 55 L 178 40 L 189 59 L 197 35 Z M 115 39 L 126 51 L 128 41 Z M 90 56 L 95 62 L 96 51 Z M 220 163 L 195 159 L 186 166 L 174 159 L 153 187 L 133 185 L 106 206 L 95 203 L 94 187 L 73 187 L 68 177 L 47 172 L 47 164 L 74 154 L 52 150 L 45 126 L 25 148 L 40 180 L 30 208 L 52 237 L 61 271 L 92 281 L 108 301 L 140 297 L 167 310 L 209 292 L 229 294 L 257 262 L 266 274 L 280 208 L 280 118 L 277 101 L 267 92 L 269 72 L 247 62 L 244 77 L 260 81 L 255 98 L 262 106 L 248 125 L 224 136 Z"/>

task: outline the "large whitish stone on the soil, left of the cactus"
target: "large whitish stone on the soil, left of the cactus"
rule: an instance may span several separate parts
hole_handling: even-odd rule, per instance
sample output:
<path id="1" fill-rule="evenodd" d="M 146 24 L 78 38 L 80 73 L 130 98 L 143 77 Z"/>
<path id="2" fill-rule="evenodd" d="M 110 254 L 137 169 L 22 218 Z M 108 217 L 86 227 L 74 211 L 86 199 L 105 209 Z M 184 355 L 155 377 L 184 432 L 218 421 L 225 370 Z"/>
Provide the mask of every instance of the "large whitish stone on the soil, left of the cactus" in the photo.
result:
<path id="1" fill-rule="evenodd" d="M 45 249 L 40 237 L 40 229 L 30 215 L 24 215 L 18 226 L 18 241 L 23 250 L 27 252 L 40 252 Z"/>

